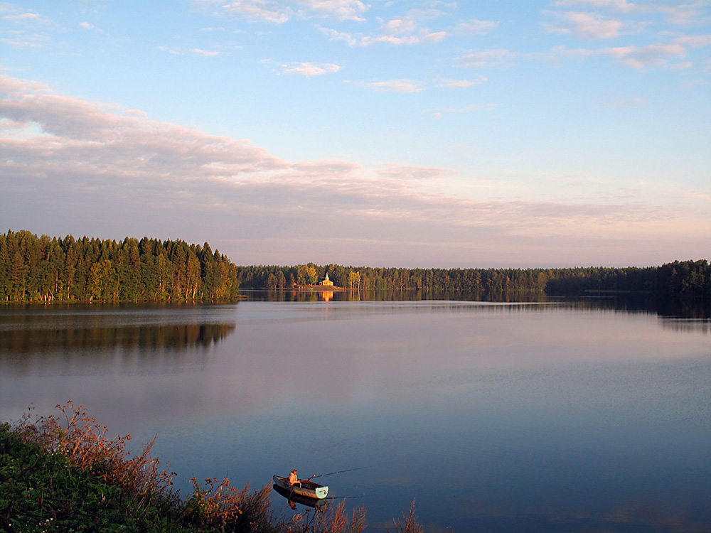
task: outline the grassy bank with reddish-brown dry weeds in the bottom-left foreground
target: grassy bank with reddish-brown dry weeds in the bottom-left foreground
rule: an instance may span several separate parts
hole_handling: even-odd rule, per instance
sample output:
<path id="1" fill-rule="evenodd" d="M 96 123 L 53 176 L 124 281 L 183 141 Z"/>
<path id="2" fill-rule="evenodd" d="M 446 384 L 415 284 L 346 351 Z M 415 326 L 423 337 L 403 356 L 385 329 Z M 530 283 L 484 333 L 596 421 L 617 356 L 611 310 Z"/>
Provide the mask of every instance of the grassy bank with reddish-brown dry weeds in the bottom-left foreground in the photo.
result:
<path id="1" fill-rule="evenodd" d="M 72 402 L 58 416 L 0 424 L 0 531 L 8 533 L 360 533 L 365 507 L 276 517 L 271 487 L 235 488 L 227 478 L 198 483 L 181 497 L 175 473 L 150 455 L 127 451 L 129 435 L 109 438 L 106 426 Z M 155 441 L 155 438 L 154 438 Z M 415 503 L 393 522 L 395 533 L 422 533 Z"/>

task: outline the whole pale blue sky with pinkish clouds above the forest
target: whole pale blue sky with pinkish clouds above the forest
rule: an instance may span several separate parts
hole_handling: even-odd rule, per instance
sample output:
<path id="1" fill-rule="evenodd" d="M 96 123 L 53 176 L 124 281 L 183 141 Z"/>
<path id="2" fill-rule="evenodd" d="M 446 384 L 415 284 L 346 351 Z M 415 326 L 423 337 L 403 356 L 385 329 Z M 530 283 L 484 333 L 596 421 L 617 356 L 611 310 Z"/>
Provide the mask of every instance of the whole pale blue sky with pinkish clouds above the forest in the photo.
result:
<path id="1" fill-rule="evenodd" d="M 238 265 L 711 257 L 711 0 L 0 1 L 0 231 Z"/>

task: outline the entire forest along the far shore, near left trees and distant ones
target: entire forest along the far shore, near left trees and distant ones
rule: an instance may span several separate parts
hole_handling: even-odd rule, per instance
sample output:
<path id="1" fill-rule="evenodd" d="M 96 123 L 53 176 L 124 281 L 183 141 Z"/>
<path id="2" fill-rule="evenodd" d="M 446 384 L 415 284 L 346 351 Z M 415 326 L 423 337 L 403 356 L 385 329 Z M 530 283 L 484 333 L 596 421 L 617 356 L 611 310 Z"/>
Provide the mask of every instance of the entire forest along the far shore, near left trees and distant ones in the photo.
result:
<path id="1" fill-rule="evenodd" d="M 358 291 L 417 291 L 467 298 L 527 299 L 583 294 L 649 294 L 711 302 L 706 259 L 662 266 L 562 269 L 405 269 L 338 264 L 235 266 L 205 242 L 144 237 L 100 240 L 0 234 L 0 301 L 196 301 L 234 298 L 242 289 L 294 289 L 328 277 Z"/>

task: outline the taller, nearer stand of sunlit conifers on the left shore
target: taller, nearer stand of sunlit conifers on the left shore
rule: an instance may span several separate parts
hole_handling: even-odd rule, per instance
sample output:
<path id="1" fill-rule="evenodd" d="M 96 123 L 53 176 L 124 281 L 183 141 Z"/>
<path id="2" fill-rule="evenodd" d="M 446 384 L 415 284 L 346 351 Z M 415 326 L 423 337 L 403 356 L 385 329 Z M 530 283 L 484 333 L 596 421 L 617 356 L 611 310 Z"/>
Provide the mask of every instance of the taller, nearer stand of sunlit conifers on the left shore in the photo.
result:
<path id="1" fill-rule="evenodd" d="M 193 301 L 237 296 L 237 270 L 205 242 L 0 234 L 0 301 Z"/>

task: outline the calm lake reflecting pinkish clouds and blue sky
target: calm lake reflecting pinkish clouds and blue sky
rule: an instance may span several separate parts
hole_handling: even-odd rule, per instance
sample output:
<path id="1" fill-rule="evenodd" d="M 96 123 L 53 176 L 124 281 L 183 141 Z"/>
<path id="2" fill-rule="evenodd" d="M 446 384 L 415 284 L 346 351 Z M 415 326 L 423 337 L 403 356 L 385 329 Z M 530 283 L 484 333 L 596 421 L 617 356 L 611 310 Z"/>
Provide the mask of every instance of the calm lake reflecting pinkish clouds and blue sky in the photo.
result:
<path id="1" fill-rule="evenodd" d="M 373 532 L 711 531 L 707 318 L 252 296 L 1 307 L 0 419 L 72 399 L 183 493 L 357 469 L 318 480 Z"/>

